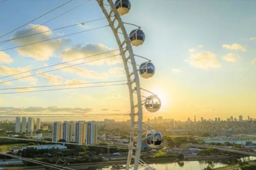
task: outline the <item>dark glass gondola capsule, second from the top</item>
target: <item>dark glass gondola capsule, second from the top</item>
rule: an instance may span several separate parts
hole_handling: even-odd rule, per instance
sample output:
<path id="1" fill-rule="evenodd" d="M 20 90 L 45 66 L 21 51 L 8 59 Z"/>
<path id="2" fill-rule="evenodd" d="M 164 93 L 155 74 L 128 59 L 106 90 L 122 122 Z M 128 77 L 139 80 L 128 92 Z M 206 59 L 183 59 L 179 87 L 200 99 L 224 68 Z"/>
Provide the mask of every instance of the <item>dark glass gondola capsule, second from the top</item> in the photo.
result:
<path id="1" fill-rule="evenodd" d="M 143 44 L 143 42 L 145 41 L 146 35 L 142 30 L 135 29 L 131 31 L 129 37 L 132 45 L 138 47 Z"/>

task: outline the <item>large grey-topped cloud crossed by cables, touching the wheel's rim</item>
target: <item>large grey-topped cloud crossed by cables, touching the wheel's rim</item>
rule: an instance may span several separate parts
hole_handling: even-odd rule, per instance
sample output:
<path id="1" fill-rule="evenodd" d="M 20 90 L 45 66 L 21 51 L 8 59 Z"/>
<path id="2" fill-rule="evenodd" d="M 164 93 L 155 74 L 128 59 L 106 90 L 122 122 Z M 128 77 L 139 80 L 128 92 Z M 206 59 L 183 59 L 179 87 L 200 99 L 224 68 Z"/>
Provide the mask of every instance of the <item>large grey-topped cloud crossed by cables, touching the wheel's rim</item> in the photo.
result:
<path id="1" fill-rule="evenodd" d="M 113 51 L 113 50 L 114 49 L 108 48 L 107 46 L 100 43 L 86 43 L 85 45 L 76 45 L 72 48 L 66 48 L 64 51 L 60 53 L 60 56 L 63 58 L 63 61 L 65 62 L 91 56 L 84 60 L 79 61 L 79 62 L 81 61 L 89 62 L 92 60 L 97 60 L 97 59 L 119 54 L 119 51 Z M 108 52 L 108 51 L 113 51 L 113 52 Z M 103 52 L 107 52 L 107 53 L 97 55 Z M 115 56 L 115 57 L 91 62 L 90 65 L 102 65 L 104 64 L 104 62 L 108 65 L 116 65 L 118 63 L 121 63 L 122 60 L 120 56 Z"/>

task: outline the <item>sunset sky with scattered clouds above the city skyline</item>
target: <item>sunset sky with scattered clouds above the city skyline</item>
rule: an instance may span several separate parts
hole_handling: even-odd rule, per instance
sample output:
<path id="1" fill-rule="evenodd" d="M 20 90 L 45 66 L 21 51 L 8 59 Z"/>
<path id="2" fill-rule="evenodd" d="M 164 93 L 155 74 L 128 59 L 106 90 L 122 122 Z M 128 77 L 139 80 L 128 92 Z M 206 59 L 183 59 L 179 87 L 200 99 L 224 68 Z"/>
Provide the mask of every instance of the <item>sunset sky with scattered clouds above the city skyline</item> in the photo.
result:
<path id="1" fill-rule="evenodd" d="M 150 79 L 140 77 L 142 88 L 156 93 L 162 107 L 156 113 L 144 109 L 144 119 L 162 116 L 164 119 L 186 120 L 188 117 L 230 116 L 256 118 L 256 1 L 220 0 L 130 0 L 131 10 L 122 16 L 123 22 L 141 26 L 146 34 L 143 45 L 133 47 L 134 53 L 152 60 L 156 67 Z M 66 0 L 7 0 L 0 3 L 0 36 L 30 20 L 56 8 Z M 25 33 L 38 34 L 15 39 L 0 45 L 0 77 L 28 71 L 28 76 L 0 84 L 0 88 L 30 87 L 0 90 L 1 93 L 35 90 L 32 86 L 66 85 L 88 82 L 126 80 L 120 57 L 81 64 L 36 76 L 38 72 L 65 67 L 68 64 L 29 71 L 60 62 L 78 59 L 118 49 L 106 19 L 76 25 L 104 17 L 96 0 L 56 17 L 85 0 L 73 0 L 53 12 L 36 19 L 20 29 L 0 38 L 11 39 Z M 104 28 L 95 29 L 106 26 Z M 127 33 L 135 27 L 125 25 Z M 33 31 L 26 33 L 28 30 Z M 25 47 L 5 50 L 44 39 L 72 34 Z M 0 43 L 1 44 L 1 43 Z M 96 56 L 86 61 L 118 54 L 118 51 Z M 136 58 L 137 64 L 144 62 Z M 71 64 L 78 64 L 81 61 Z M 123 83 L 116 83 L 123 84 Z M 96 84 L 99 85 L 99 84 Z M 100 84 L 106 85 L 106 84 Z M 85 86 L 85 85 L 81 85 Z M 76 86 L 78 87 L 78 86 Z M 60 87 L 48 87 L 60 88 Z M 42 89 L 42 88 L 40 88 Z M 38 89 L 36 89 L 38 90 Z M 148 96 L 146 92 L 142 95 Z M 127 116 L 76 117 L 79 114 L 127 114 L 130 108 L 127 85 L 83 88 L 59 91 L 15 93 L 0 95 L 0 114 L 58 115 L 73 114 L 70 118 L 42 118 L 42 120 L 126 120 Z M 2 118 L 3 119 L 3 118 Z"/>

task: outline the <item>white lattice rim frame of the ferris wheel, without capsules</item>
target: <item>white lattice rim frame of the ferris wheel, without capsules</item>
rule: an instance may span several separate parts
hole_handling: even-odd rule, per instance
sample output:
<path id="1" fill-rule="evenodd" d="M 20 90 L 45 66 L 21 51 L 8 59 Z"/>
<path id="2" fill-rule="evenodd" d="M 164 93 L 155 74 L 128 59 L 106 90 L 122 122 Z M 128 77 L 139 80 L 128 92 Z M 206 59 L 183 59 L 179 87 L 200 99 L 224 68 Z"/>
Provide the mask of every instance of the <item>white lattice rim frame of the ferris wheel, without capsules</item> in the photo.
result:
<path id="1" fill-rule="evenodd" d="M 142 88 L 140 88 L 138 69 L 137 69 L 137 65 L 134 57 L 135 54 L 133 52 L 133 48 L 132 48 L 129 36 L 124 27 L 124 22 L 122 21 L 120 15 L 118 14 L 118 11 L 116 9 L 116 6 L 113 0 L 106 0 L 106 1 L 108 2 L 108 4 L 104 3 L 104 0 L 97 0 L 98 5 L 101 8 L 103 14 L 105 15 L 109 23 L 109 26 L 111 27 L 113 34 L 115 35 L 115 38 L 117 40 L 118 47 L 120 49 L 120 55 L 122 56 L 122 60 L 124 64 L 124 69 L 125 69 L 125 73 L 128 81 L 127 85 L 129 88 L 129 95 L 130 95 L 131 127 L 130 127 L 130 142 L 128 146 L 129 152 L 128 152 L 128 157 L 126 162 L 126 170 L 130 169 L 132 159 L 134 159 L 134 170 L 138 170 L 139 164 L 147 166 L 148 170 L 155 170 L 154 168 L 151 168 L 148 164 L 146 164 L 144 161 L 140 159 L 142 131 L 143 131 L 143 128 L 142 128 L 143 113 L 142 113 L 142 101 L 141 101 L 141 93 L 140 93 L 140 89 Z M 106 6 L 110 7 L 109 12 L 105 8 Z M 117 26 L 115 26 L 115 23 L 117 23 L 116 24 Z M 130 23 L 125 23 L 125 24 L 130 24 Z M 130 24 L 130 25 L 137 26 L 134 24 Z M 122 36 L 122 38 L 120 36 Z M 131 69 L 132 72 L 130 72 L 129 70 L 128 63 L 132 65 L 132 69 Z M 137 98 L 137 104 L 135 104 L 134 98 Z M 135 121 L 136 116 L 138 117 L 138 121 Z M 135 125 L 137 125 L 138 127 L 136 128 Z M 135 143 L 136 143 L 136 146 L 135 146 Z"/>

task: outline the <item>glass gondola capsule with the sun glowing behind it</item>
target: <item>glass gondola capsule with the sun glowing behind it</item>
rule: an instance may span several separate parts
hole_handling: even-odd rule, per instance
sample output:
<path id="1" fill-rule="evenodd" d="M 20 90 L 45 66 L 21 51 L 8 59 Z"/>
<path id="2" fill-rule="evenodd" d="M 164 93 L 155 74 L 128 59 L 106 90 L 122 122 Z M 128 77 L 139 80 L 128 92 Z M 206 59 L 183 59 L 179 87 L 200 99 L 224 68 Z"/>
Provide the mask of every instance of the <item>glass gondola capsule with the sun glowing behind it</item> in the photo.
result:
<path id="1" fill-rule="evenodd" d="M 147 97 L 145 101 L 145 108 L 149 112 L 157 112 L 161 108 L 161 101 L 156 95 Z"/>

